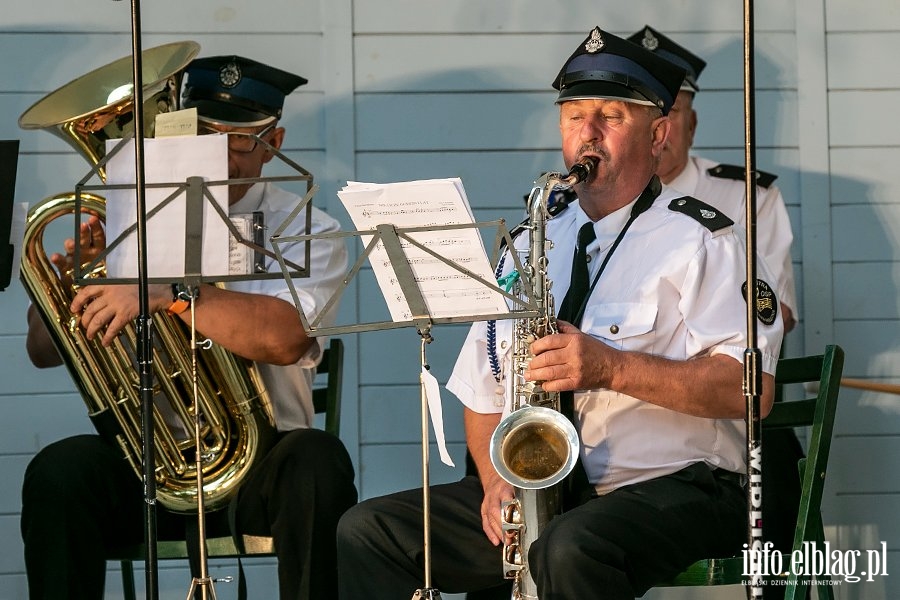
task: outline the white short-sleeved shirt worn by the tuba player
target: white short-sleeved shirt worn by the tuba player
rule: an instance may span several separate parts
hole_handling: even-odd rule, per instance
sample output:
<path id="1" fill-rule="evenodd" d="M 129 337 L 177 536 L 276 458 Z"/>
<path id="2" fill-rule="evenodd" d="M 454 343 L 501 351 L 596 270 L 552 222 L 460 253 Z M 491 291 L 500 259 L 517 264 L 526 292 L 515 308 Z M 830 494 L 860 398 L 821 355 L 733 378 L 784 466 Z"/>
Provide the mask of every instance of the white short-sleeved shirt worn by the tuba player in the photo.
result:
<path id="1" fill-rule="evenodd" d="M 229 209 L 230 215 L 250 214 L 261 211 L 265 216 L 265 225 L 269 232 L 281 225 L 291 211 L 300 202 L 300 197 L 269 183 L 253 185 L 239 202 Z M 337 231 L 340 224 L 326 213 L 313 207 L 312 229 L 310 234 Z M 305 235 L 305 219 L 302 215 L 295 219 L 284 231 L 284 236 Z M 303 265 L 304 243 L 283 244 L 280 250 L 285 260 Z M 272 250 L 271 242 L 266 237 L 265 247 Z M 303 307 L 303 312 L 311 321 L 325 306 L 337 290 L 346 274 L 347 247 L 342 239 L 314 240 L 310 250 L 310 276 L 294 278 L 293 283 Z M 266 271 L 281 273 L 281 266 L 274 258 L 266 257 Z M 254 279 L 250 281 L 232 281 L 225 287 L 237 292 L 265 294 L 274 296 L 294 304 L 290 288 L 283 277 L 274 279 Z M 323 321 L 323 326 L 333 322 Z M 287 366 L 256 363 L 260 375 L 272 400 L 275 424 L 279 431 L 290 431 L 312 425 L 315 411 L 312 404 L 312 380 L 315 367 L 322 357 L 326 339 L 314 338 L 314 343 L 307 353 L 295 364 Z"/>

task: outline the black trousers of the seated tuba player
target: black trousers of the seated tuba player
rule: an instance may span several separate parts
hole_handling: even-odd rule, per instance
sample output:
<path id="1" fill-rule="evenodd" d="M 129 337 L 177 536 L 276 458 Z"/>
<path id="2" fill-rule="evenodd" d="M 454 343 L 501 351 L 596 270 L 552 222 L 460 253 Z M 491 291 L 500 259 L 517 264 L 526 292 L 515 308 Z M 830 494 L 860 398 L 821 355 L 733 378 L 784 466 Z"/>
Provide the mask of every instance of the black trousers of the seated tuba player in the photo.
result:
<path id="1" fill-rule="evenodd" d="M 343 444 L 316 429 L 279 434 L 236 500 L 240 533 L 272 536 L 282 600 L 333 598 L 334 532 L 356 503 L 353 466 Z M 229 535 L 227 511 L 211 513 L 207 534 Z M 184 539 L 187 520 L 161 506 L 159 539 Z M 44 448 L 28 465 L 22 538 L 29 596 L 103 598 L 105 556 L 144 539 L 143 491 L 121 451 L 96 435 Z"/>

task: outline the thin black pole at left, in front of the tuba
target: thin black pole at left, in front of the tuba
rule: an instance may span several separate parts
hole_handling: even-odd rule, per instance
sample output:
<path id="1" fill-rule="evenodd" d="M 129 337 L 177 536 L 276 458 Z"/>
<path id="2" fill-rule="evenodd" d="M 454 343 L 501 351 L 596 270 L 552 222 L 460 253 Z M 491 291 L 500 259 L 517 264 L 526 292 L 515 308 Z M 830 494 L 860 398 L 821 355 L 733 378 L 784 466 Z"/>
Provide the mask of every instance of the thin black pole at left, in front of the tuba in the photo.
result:
<path id="1" fill-rule="evenodd" d="M 137 197 L 138 241 L 138 305 L 137 361 L 141 392 L 141 434 L 144 457 L 144 547 L 146 598 L 159 598 L 156 556 L 156 451 L 153 444 L 153 325 L 147 291 L 147 205 L 144 182 L 144 93 L 141 64 L 141 7 L 140 0 L 131 0 L 131 55 L 134 79 L 134 161 L 135 192 Z"/>

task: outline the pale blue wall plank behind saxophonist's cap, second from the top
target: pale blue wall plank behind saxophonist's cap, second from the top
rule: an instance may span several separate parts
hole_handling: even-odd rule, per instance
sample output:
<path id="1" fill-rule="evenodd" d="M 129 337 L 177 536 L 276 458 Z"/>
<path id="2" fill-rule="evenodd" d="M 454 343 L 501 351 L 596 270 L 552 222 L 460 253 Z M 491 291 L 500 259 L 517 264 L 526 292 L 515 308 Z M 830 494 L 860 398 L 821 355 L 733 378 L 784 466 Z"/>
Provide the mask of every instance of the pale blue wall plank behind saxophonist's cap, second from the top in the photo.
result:
<path id="1" fill-rule="evenodd" d="M 673 36 L 707 61 L 701 77 L 704 92 L 743 87 L 740 32 Z M 763 32 L 755 41 L 757 87 L 796 88 L 794 36 Z M 574 48 L 569 33 L 511 33 L 503 37 L 504 52 L 486 62 L 485 56 L 496 47 L 495 33 L 360 35 L 356 89 L 360 93 L 543 91 Z"/>

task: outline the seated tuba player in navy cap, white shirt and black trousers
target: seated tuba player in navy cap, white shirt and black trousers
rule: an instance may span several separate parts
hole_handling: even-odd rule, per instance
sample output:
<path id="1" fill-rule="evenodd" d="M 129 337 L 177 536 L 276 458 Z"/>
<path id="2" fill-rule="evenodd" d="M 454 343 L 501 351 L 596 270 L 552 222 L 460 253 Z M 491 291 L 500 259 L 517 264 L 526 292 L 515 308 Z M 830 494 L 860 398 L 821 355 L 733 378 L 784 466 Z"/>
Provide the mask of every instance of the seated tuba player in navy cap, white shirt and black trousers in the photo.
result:
<path id="1" fill-rule="evenodd" d="M 198 58 L 186 68 L 182 104 L 196 107 L 201 130 L 228 135 L 231 179 L 259 177 L 274 156 L 255 134 L 280 148 L 284 99 L 306 83 L 302 77 L 240 56 Z M 262 212 L 266 223 L 283 222 L 300 198 L 268 182 L 229 186 L 231 215 Z M 311 233 L 335 231 L 337 221 L 313 209 Z M 298 224 L 288 235 L 306 231 Z M 79 239 L 52 262 L 66 277 L 75 244 L 93 258 L 105 246 L 96 217 L 84 223 Z M 301 264 L 303 244 L 288 249 Z M 150 249 L 151 252 L 165 251 Z M 316 240 L 311 276 L 295 284 L 304 311 L 315 314 L 339 285 L 347 262 L 343 242 Z M 298 254 L 299 253 L 299 254 Z M 280 271 L 269 259 L 267 269 Z M 254 361 L 273 403 L 276 442 L 254 467 L 234 500 L 237 532 L 229 532 L 228 510 L 207 515 L 211 535 L 240 533 L 272 537 L 278 558 L 282 600 L 324 599 L 336 587 L 334 532 L 357 492 L 350 457 L 340 440 L 312 427 L 312 378 L 321 358 L 322 338 L 306 335 L 283 278 L 231 282 L 224 289 L 200 286 L 199 295 L 175 296 L 169 285 L 149 286 L 151 312 L 168 311 L 243 358 Z M 76 294 L 71 310 L 89 338 L 109 344 L 138 316 L 136 286 L 89 285 Z M 28 351 L 38 366 L 60 364 L 35 311 L 29 312 Z M 187 353 L 189 348 L 185 348 Z M 139 478 L 121 451 L 99 435 L 55 442 L 31 461 L 22 492 L 22 536 L 33 600 L 101 600 L 105 556 L 118 546 L 143 541 L 143 493 Z M 195 515 L 158 511 L 160 539 L 184 539 Z"/>

